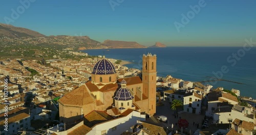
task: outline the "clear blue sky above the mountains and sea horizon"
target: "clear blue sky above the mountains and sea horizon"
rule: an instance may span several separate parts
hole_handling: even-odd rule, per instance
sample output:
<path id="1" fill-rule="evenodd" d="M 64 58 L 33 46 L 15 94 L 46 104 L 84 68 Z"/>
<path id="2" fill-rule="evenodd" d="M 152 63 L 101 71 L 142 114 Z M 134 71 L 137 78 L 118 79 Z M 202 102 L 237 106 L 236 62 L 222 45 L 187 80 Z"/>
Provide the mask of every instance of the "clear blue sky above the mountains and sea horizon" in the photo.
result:
<path id="1" fill-rule="evenodd" d="M 29 1 L 29 0 L 21 0 Z M 32 1 L 32 0 L 30 0 Z M 202 0 L 112 0 L 57 1 L 33 0 L 24 13 L 12 19 L 19 1 L 2 1 L 0 22 L 11 18 L 10 25 L 49 35 L 88 35 L 103 42 L 106 39 L 137 41 L 152 46 L 156 41 L 167 46 L 243 46 L 245 38 L 256 38 L 256 1 L 205 0 L 187 24 L 177 31 L 174 22 L 182 24 L 182 15 Z M 118 3 L 122 2 L 122 3 Z"/>

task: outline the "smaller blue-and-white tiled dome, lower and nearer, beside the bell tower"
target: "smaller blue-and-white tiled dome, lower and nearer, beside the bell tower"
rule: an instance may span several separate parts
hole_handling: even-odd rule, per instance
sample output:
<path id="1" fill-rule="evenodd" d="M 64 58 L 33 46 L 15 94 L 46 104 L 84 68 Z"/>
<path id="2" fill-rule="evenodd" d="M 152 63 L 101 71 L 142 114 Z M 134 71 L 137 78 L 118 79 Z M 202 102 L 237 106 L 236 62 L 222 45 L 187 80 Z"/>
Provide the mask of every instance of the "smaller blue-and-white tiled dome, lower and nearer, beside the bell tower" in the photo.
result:
<path id="1" fill-rule="evenodd" d="M 133 100 L 133 96 L 130 93 L 129 89 L 126 87 L 121 87 L 118 89 L 116 95 L 114 96 L 115 100 L 127 101 Z"/>

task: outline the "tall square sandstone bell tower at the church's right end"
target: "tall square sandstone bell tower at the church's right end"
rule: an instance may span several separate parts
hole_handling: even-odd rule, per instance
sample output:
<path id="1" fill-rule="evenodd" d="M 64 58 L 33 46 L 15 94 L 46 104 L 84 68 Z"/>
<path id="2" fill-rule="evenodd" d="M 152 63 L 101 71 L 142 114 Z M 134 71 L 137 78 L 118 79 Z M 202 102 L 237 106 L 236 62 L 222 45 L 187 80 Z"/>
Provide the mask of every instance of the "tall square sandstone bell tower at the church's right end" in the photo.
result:
<path id="1" fill-rule="evenodd" d="M 143 54 L 142 64 L 142 92 L 148 98 L 147 114 L 153 116 L 156 113 L 156 77 L 157 77 L 157 56 L 148 53 Z"/>

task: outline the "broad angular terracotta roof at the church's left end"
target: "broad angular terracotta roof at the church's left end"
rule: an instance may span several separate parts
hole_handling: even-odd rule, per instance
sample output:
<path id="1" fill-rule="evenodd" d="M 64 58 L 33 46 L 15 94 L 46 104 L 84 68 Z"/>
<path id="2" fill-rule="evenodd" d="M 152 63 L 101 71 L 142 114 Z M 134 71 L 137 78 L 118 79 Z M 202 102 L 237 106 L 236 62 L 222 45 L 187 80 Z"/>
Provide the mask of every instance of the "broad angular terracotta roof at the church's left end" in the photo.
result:
<path id="1" fill-rule="evenodd" d="M 94 102 L 85 85 L 74 89 L 58 100 L 63 105 L 86 105 Z"/>

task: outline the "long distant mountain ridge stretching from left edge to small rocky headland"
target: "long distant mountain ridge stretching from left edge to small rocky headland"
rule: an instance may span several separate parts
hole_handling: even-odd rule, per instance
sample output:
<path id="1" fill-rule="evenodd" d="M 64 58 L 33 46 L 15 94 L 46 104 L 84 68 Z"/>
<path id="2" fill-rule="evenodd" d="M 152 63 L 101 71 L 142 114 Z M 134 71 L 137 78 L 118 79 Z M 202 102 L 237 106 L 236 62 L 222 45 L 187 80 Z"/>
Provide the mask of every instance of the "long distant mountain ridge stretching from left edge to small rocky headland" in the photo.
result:
<path id="1" fill-rule="evenodd" d="M 5 38 L 5 40 L 1 40 Z M 26 44 L 62 45 L 74 50 L 104 49 L 104 48 L 147 48 L 136 41 L 105 40 L 103 43 L 91 39 L 89 36 L 46 36 L 26 28 L 0 24 L 0 46 L 12 44 L 13 46 L 26 46 Z M 163 47 L 157 42 L 152 47 Z M 165 45 L 164 45 L 165 46 Z M 166 47 L 166 46 L 165 46 Z"/>

